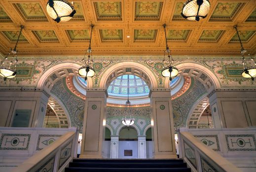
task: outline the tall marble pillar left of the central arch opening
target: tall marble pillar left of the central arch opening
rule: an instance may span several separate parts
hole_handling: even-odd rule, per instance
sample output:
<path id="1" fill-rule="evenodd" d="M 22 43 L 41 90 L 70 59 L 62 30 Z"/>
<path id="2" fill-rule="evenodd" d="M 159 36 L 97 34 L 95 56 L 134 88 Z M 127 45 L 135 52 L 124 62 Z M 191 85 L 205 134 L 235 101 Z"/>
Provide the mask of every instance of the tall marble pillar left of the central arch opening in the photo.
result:
<path id="1" fill-rule="evenodd" d="M 103 158 L 107 97 L 105 88 L 86 90 L 80 158 Z"/>

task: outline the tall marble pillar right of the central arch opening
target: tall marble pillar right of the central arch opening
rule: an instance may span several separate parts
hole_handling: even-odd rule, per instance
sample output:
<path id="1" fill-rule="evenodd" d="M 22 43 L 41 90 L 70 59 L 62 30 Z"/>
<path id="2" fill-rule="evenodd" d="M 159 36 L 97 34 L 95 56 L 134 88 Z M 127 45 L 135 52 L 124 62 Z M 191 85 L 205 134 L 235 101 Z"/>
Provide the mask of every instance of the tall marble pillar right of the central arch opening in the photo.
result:
<path id="1" fill-rule="evenodd" d="M 154 158 L 177 158 L 170 88 L 153 88 L 149 93 Z"/>

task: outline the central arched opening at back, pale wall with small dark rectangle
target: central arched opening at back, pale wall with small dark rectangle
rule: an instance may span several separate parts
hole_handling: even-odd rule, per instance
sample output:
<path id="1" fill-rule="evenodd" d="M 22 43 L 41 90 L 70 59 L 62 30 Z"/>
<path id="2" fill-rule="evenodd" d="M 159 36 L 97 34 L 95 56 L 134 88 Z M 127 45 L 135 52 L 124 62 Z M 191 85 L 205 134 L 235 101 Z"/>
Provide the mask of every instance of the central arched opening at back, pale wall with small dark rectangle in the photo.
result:
<path id="1" fill-rule="evenodd" d="M 133 127 L 123 127 L 119 132 L 118 158 L 138 158 L 138 133 Z"/>

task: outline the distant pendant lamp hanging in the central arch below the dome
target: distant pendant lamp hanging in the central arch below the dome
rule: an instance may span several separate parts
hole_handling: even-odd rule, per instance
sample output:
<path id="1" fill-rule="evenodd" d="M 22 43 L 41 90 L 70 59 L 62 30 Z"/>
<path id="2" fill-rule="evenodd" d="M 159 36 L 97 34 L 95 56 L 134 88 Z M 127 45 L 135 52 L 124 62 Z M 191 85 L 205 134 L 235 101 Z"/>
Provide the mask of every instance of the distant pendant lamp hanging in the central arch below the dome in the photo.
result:
<path id="1" fill-rule="evenodd" d="M 122 118 L 122 124 L 126 126 L 131 126 L 134 124 L 135 119 L 132 118 L 132 105 L 129 101 L 129 75 L 128 75 L 128 86 L 127 86 L 127 101 L 125 103 L 124 117 Z"/>

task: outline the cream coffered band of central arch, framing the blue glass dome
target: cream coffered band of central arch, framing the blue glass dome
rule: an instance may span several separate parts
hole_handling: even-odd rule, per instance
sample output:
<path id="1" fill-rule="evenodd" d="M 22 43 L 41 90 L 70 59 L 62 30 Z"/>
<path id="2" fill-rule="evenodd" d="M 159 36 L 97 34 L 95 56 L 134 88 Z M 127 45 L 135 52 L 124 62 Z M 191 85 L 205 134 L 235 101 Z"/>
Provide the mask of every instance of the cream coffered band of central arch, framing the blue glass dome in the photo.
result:
<path id="1" fill-rule="evenodd" d="M 157 81 L 151 70 L 143 64 L 132 61 L 124 61 L 114 64 L 109 69 L 104 71 L 104 74 L 100 81 L 100 87 L 107 88 L 115 78 L 127 74 L 132 74 L 142 78 L 151 88 L 157 87 Z"/>

